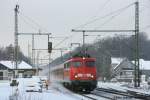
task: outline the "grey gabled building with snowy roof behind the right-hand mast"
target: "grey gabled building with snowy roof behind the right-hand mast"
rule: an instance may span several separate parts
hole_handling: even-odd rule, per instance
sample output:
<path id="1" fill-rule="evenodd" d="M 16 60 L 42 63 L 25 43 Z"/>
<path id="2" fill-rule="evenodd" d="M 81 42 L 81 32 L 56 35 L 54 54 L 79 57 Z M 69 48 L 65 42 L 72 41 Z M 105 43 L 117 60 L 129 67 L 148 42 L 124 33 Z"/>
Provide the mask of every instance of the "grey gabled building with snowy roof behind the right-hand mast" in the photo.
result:
<path id="1" fill-rule="evenodd" d="M 115 59 L 115 60 L 114 60 Z M 112 75 L 118 81 L 132 82 L 134 80 L 134 61 L 124 58 L 122 60 L 112 60 Z M 120 59 L 120 58 L 119 58 Z M 118 61 L 118 62 L 116 62 Z M 150 77 L 150 61 L 140 59 L 140 74 L 146 76 L 146 80 Z"/>

